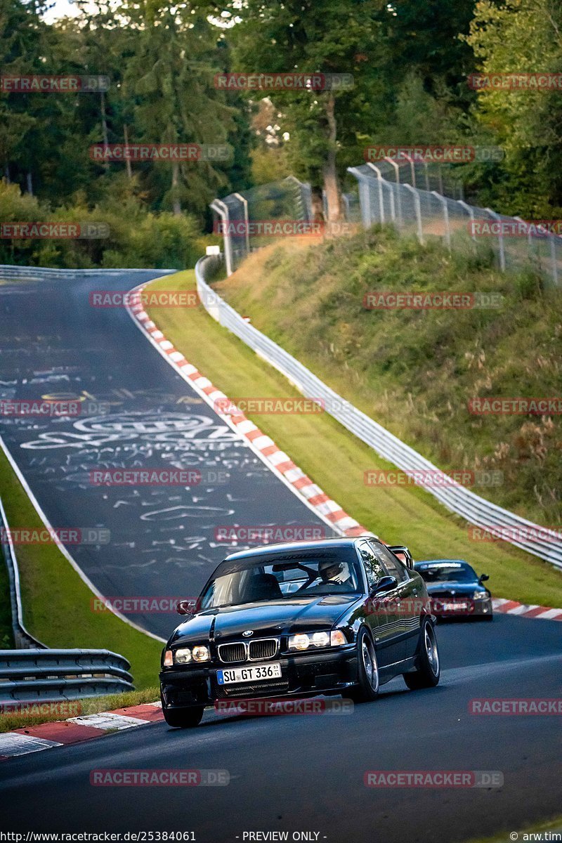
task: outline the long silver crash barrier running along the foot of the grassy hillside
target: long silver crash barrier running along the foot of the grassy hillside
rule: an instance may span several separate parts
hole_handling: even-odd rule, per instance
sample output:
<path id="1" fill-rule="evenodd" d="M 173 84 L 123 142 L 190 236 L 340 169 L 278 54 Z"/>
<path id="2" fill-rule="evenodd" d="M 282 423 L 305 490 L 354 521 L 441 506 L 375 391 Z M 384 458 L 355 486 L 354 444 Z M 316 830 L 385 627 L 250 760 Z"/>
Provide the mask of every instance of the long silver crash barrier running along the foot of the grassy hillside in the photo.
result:
<path id="1" fill-rule="evenodd" d="M 222 260 L 221 256 L 211 255 L 201 258 L 195 266 L 199 297 L 213 319 L 217 319 L 217 322 L 231 330 L 260 357 L 270 362 L 292 384 L 295 384 L 302 395 L 307 398 L 324 399 L 329 415 L 334 416 L 340 424 L 369 445 L 383 459 L 387 459 L 402 470 L 440 471 L 429 459 L 422 457 L 414 448 L 410 448 L 377 424 L 377 421 L 373 421 L 361 410 L 357 410 L 342 399 L 306 366 L 262 334 L 260 330 L 249 325 L 236 310 L 220 298 L 205 281 L 206 272 L 216 270 L 217 261 L 220 260 Z M 335 409 L 330 410 L 330 407 Z M 538 524 L 533 524 L 532 521 L 527 521 L 526 518 L 521 518 L 515 513 L 496 506 L 495 503 L 484 500 L 466 486 L 428 486 L 426 491 L 429 491 L 451 512 L 465 518 L 469 524 L 483 528 L 506 528 L 511 531 L 509 540 L 512 545 L 562 568 L 562 542 L 554 531 L 546 530 Z M 517 531 L 522 535 L 517 535 Z"/>

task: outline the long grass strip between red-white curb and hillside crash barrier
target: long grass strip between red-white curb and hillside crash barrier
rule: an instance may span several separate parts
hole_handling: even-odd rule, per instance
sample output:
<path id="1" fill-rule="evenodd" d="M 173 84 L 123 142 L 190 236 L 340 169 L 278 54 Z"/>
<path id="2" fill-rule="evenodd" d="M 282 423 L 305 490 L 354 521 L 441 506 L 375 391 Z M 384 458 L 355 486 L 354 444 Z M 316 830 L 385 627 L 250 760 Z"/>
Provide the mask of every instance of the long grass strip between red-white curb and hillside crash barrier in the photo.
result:
<path id="1" fill-rule="evenodd" d="M 194 287 L 195 273 L 190 270 L 155 282 L 151 289 Z M 299 396 L 281 373 L 265 365 L 204 309 L 152 308 L 149 312 L 186 359 L 229 397 Z M 562 604 L 562 573 L 546 562 L 505 542 L 484 544 L 469 540 L 463 520 L 448 513 L 419 487 L 365 486 L 366 469 L 392 466 L 330 416 L 250 417 L 326 494 L 389 544 L 405 542 L 417 559 L 467 559 L 479 573 L 490 574 L 490 588 L 497 597 L 541 605 Z"/>

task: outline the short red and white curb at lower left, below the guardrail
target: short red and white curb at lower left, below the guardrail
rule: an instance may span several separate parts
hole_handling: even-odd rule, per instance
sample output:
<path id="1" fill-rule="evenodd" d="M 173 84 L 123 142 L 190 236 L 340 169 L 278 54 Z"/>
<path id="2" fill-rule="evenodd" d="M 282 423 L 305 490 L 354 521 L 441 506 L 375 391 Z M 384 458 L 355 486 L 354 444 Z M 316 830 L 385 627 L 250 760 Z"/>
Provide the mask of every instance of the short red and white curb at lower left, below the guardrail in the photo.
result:
<path id="1" fill-rule="evenodd" d="M 14 729 L 13 732 L 0 733 L 0 760 L 65 744 L 80 744 L 92 738 L 103 738 L 108 732 L 147 726 L 148 723 L 159 722 L 163 718 L 161 704 L 148 702 L 141 706 L 100 711 L 99 714 L 86 714 L 70 717 L 68 720 Z"/>

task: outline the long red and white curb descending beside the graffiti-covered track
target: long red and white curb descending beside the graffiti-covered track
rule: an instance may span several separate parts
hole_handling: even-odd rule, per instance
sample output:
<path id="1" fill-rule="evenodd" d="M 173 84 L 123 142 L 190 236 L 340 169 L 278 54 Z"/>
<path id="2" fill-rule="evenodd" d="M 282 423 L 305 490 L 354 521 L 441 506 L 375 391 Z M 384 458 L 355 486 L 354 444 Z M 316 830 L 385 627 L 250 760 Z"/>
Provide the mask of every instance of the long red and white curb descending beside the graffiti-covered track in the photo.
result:
<path id="1" fill-rule="evenodd" d="M 130 297 L 134 302 L 135 293 L 142 293 L 147 284 L 140 284 L 131 290 Z M 187 381 L 201 398 L 211 406 L 212 410 L 217 413 L 222 421 L 228 427 L 231 427 L 242 438 L 246 440 L 249 447 L 252 448 L 255 454 L 265 462 L 268 468 L 274 472 L 281 480 L 288 486 L 300 500 L 314 513 L 322 518 L 325 524 L 329 524 L 336 533 L 342 535 L 354 536 L 364 535 L 369 533 L 364 527 L 361 527 L 355 518 L 340 507 L 338 503 L 333 501 L 331 497 L 324 494 L 299 467 L 293 463 L 292 459 L 281 451 L 273 439 L 266 436 L 260 428 L 254 425 L 243 412 L 230 404 L 227 406 L 229 399 L 224 395 L 220 389 L 217 389 L 211 381 L 206 378 L 198 369 L 187 361 L 184 355 L 179 352 L 174 345 L 166 339 L 163 332 L 158 329 L 152 319 L 150 319 L 147 312 L 143 309 L 142 303 L 136 302 L 127 306 L 131 318 L 135 320 L 135 324 L 146 334 L 158 351 L 163 354 L 170 365 Z M 220 403 L 217 403 L 220 402 Z M 220 411 L 220 406 L 227 406 L 227 411 Z"/>

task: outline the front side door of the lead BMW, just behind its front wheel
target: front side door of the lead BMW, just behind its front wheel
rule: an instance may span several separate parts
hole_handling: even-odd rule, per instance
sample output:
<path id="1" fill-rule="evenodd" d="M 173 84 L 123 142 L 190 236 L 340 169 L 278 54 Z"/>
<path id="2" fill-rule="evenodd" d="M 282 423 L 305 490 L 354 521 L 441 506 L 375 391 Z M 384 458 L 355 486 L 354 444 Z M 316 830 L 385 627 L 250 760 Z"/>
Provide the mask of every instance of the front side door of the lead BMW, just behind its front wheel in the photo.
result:
<path id="1" fill-rule="evenodd" d="M 382 577 L 393 576 L 393 574 L 388 574 L 375 552 L 375 547 L 370 542 L 362 541 L 358 550 L 367 574 L 369 590 L 372 592 Z M 397 599 L 398 591 L 393 588 L 391 591 L 377 594 L 367 600 L 367 623 L 375 642 L 379 668 L 388 667 L 389 664 L 405 658 L 404 642 L 399 638 L 399 631 L 397 631 L 399 624 Z"/>

